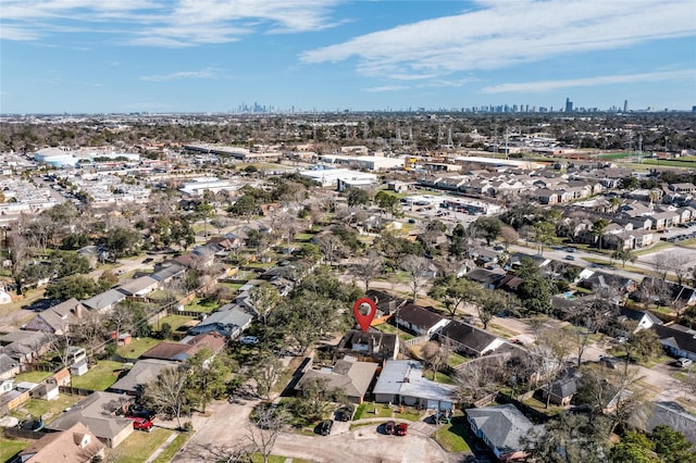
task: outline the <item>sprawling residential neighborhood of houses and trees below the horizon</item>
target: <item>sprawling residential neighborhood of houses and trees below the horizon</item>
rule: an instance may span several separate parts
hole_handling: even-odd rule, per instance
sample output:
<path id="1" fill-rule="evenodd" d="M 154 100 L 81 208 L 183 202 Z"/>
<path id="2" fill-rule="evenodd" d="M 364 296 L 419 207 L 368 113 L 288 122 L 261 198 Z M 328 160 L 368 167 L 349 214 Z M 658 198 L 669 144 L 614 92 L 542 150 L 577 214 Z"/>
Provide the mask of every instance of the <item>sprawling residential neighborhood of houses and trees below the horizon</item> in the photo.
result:
<path id="1" fill-rule="evenodd" d="M 159 117 L 3 139 L 3 461 L 694 461 L 693 117 L 532 118 L 546 149 L 505 155 L 483 120 L 419 148 L 346 117 L 321 143 L 299 116 L 246 143 L 213 116 L 185 142 Z M 560 135 L 588 124 L 684 148 Z"/>

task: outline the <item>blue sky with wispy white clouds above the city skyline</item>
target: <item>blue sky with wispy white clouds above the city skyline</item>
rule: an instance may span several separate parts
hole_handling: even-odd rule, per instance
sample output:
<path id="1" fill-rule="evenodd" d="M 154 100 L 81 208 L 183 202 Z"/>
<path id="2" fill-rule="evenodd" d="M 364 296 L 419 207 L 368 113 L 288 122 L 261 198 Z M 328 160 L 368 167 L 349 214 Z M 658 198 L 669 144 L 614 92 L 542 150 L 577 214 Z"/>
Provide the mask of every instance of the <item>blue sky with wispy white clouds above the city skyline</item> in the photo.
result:
<path id="1" fill-rule="evenodd" d="M 695 0 L 0 0 L 0 113 L 691 110 Z"/>

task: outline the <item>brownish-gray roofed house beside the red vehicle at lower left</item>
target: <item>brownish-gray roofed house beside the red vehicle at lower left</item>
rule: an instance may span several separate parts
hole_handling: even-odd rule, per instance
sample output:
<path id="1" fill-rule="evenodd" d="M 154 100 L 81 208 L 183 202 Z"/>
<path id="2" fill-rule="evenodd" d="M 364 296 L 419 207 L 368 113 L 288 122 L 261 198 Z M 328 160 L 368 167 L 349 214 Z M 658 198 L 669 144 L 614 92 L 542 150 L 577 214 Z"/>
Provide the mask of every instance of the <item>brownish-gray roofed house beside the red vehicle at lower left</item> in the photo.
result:
<path id="1" fill-rule="evenodd" d="M 113 449 L 133 433 L 133 420 L 121 417 L 129 402 L 130 399 L 122 393 L 92 392 L 46 425 L 46 428 L 65 431 L 82 423 L 104 446 Z"/>

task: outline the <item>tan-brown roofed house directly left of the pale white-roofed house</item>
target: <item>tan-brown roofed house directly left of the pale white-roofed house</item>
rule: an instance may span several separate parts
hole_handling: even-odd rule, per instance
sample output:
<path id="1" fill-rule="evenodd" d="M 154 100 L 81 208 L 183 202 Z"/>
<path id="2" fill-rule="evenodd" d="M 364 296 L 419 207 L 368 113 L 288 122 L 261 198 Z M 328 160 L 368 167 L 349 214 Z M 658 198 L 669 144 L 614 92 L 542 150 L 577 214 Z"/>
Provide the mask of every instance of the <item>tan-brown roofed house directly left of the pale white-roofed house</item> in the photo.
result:
<path id="1" fill-rule="evenodd" d="M 324 390 L 343 389 L 346 398 L 356 404 L 362 403 L 368 388 L 377 371 L 376 363 L 339 360 L 333 368 L 309 370 L 295 386 L 298 395 L 311 379 L 325 381 Z"/>

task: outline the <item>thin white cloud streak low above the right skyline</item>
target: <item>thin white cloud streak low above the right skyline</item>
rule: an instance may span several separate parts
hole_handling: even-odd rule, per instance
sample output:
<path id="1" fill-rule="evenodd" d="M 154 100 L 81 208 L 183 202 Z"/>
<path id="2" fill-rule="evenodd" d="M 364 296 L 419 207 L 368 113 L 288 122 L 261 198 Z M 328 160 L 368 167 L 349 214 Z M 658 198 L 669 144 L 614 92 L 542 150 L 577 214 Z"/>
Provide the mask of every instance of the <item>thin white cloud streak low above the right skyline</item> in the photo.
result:
<path id="1" fill-rule="evenodd" d="M 642 82 L 686 80 L 696 82 L 696 70 L 667 71 L 633 75 L 597 76 L 564 80 L 537 80 L 520 84 L 500 84 L 484 87 L 484 93 L 540 92 L 571 87 L 594 87 L 598 85 L 635 84 Z"/>

